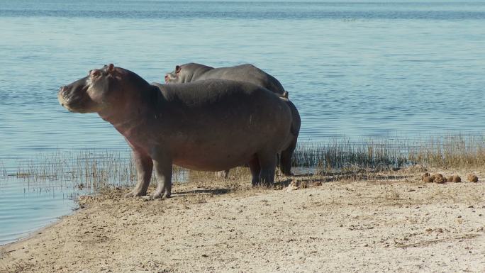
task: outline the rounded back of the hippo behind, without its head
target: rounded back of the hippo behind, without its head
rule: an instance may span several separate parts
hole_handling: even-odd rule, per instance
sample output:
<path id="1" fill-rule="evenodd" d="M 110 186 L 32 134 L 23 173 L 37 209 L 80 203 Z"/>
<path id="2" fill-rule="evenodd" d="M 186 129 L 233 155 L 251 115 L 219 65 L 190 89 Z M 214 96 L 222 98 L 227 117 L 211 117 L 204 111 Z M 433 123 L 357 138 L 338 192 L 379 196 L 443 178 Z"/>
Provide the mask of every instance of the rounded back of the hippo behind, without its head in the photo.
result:
<path id="1" fill-rule="evenodd" d="M 214 68 L 205 72 L 198 80 L 201 79 L 228 79 L 249 82 L 274 93 L 284 94 L 283 86 L 275 77 L 250 64 Z"/>

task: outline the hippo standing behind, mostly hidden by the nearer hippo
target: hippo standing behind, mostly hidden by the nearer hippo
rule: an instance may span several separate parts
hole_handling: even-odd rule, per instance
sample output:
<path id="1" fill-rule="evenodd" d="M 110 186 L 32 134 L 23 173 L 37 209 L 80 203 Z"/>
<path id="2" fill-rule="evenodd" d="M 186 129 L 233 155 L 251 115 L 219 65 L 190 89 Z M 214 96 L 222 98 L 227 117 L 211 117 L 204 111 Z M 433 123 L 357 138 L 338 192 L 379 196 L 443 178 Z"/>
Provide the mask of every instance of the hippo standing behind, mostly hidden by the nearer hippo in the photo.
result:
<path id="1" fill-rule="evenodd" d="M 206 65 L 189 63 L 185 65 L 177 65 L 173 72 L 165 74 L 165 83 L 167 84 L 181 84 L 204 79 L 229 79 L 239 82 L 250 82 L 259 87 L 264 87 L 273 91 L 276 94 L 285 96 L 286 98 L 288 97 L 288 93 L 284 91 L 283 86 L 276 78 L 250 64 L 237 65 L 235 67 L 213 68 Z M 293 152 L 296 148 L 296 142 L 300 133 L 301 119 L 296 106 L 289 100 L 286 100 L 286 104 L 288 104 L 291 109 L 293 123 L 291 124 L 291 141 L 281 152 L 279 168 L 284 175 L 289 176 L 291 175 L 291 157 L 293 157 Z M 228 170 L 225 170 L 224 172 L 221 172 L 219 176 L 228 177 L 228 172 Z"/>

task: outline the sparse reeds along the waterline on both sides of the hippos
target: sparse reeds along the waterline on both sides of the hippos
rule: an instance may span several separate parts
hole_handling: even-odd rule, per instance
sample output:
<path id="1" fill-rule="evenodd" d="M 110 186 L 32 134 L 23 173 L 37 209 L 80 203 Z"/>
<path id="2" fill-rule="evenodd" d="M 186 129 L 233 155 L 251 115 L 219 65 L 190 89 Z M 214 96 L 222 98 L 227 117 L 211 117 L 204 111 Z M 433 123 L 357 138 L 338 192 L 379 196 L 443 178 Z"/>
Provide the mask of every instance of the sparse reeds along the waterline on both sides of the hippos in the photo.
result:
<path id="1" fill-rule="evenodd" d="M 347 169 L 384 170 L 409 165 L 429 167 L 474 168 L 485 165 L 485 137 L 479 135 L 446 135 L 427 140 L 345 138 L 323 142 L 301 142 L 296 148 L 293 166 L 308 173 Z M 0 177 L 16 177 L 28 182 L 56 181 L 96 191 L 112 186 L 131 186 L 136 170 L 128 151 L 82 150 L 50 152 L 21 162 L 15 173 L 0 163 Z M 246 167 L 234 168 L 230 179 L 249 179 Z M 217 179 L 213 172 L 197 172 L 174 166 L 174 182 Z M 157 180 L 154 174 L 153 181 Z"/>

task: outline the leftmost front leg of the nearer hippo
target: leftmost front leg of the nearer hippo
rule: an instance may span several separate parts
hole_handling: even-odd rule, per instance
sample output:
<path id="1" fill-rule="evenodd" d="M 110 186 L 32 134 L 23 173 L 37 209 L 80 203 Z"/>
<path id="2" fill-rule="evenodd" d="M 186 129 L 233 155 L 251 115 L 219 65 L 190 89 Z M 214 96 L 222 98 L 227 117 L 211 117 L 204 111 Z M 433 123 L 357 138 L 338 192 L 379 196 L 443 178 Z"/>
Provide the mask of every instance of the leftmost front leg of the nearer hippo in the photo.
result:
<path id="1" fill-rule="evenodd" d="M 150 179 L 152 177 L 153 162 L 148 155 L 143 155 L 136 150 L 133 150 L 133 161 L 135 162 L 136 174 L 138 182 L 133 191 L 126 194 L 126 197 L 145 196 L 147 194 Z"/>

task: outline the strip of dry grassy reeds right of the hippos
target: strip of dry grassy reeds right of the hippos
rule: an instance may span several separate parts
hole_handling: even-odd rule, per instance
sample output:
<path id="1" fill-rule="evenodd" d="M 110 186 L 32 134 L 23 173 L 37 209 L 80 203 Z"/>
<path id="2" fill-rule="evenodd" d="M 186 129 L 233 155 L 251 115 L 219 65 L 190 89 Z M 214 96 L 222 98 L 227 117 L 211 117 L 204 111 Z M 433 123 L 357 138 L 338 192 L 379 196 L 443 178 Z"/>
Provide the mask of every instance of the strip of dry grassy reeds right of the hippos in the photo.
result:
<path id="1" fill-rule="evenodd" d="M 409 165 L 474 168 L 485 165 L 485 136 L 445 135 L 428 139 L 330 140 L 299 143 L 293 165 L 319 169 L 397 169 Z"/>

